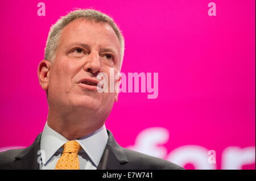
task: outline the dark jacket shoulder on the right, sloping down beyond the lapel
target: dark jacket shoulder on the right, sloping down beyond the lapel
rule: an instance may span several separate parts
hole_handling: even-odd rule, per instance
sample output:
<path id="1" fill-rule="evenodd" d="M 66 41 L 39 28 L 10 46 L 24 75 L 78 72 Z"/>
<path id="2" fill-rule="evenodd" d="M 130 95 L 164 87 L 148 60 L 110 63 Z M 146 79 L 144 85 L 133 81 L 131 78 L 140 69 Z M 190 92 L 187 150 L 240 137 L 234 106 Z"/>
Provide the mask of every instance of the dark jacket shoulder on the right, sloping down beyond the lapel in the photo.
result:
<path id="1" fill-rule="evenodd" d="M 183 167 L 162 158 L 152 157 L 126 148 L 123 148 L 123 151 L 125 151 L 125 154 L 129 159 L 128 165 L 133 167 L 133 169 L 183 170 Z"/>

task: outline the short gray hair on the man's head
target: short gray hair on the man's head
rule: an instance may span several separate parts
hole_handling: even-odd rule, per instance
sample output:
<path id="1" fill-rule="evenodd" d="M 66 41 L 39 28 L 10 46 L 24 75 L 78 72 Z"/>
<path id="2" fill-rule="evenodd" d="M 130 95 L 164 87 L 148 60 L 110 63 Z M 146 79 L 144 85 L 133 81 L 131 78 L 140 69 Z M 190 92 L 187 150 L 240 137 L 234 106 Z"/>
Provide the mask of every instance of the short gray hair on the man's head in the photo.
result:
<path id="1" fill-rule="evenodd" d="M 57 47 L 59 46 L 60 41 L 60 34 L 65 26 L 67 26 L 69 23 L 71 23 L 73 20 L 77 18 L 84 18 L 86 20 L 91 20 L 95 22 L 104 22 L 108 23 L 114 30 L 115 34 L 118 37 L 119 43 L 121 45 L 120 49 L 120 65 L 119 65 L 119 71 L 122 67 L 123 62 L 123 54 L 125 51 L 125 40 L 123 38 L 121 30 L 119 30 L 117 24 L 114 23 L 114 20 L 110 18 L 108 15 L 103 14 L 100 11 L 92 10 L 92 9 L 79 9 L 75 11 L 69 12 L 69 14 L 65 16 L 61 16 L 59 20 L 55 24 L 52 25 L 47 42 L 46 42 L 46 48 L 44 49 L 44 60 L 49 60 L 53 62 L 55 60 L 55 54 Z"/>

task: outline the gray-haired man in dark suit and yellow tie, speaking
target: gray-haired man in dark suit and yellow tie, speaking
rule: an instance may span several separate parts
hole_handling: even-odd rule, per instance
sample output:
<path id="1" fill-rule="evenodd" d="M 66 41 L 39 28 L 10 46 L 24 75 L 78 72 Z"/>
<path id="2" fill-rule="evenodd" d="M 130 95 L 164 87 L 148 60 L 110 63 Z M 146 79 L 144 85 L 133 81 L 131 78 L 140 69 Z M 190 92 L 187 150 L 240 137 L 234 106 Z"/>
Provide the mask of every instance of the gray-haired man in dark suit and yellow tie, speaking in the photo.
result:
<path id="1" fill-rule="evenodd" d="M 118 91 L 103 91 L 97 75 L 119 75 L 124 40 L 112 18 L 76 10 L 51 27 L 38 66 L 48 101 L 47 123 L 26 149 L 0 153 L 0 169 L 182 169 L 122 148 L 105 128 Z M 115 84 L 120 79 L 115 79 Z"/>

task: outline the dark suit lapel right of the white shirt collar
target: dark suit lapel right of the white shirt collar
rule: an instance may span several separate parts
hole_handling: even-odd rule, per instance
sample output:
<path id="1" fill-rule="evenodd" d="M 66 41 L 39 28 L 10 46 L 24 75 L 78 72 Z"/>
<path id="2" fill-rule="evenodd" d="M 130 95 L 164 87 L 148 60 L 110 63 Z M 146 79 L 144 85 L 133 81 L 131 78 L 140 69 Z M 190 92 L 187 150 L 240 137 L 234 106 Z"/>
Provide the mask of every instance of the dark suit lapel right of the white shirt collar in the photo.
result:
<path id="1" fill-rule="evenodd" d="M 115 141 L 113 134 L 107 129 L 109 140 L 97 167 L 98 170 L 116 170 L 121 169 L 121 164 L 128 163 L 127 155 L 123 148 Z M 105 165 L 106 162 L 106 165 Z"/>

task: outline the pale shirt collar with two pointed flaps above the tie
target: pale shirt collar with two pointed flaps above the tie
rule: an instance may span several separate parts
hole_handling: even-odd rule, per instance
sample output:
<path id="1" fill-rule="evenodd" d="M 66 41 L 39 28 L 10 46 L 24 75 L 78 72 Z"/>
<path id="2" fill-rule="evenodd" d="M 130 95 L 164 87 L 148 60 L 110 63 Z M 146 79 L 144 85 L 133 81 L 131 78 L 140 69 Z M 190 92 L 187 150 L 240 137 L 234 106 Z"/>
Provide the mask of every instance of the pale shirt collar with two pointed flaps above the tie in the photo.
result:
<path id="1" fill-rule="evenodd" d="M 47 163 L 56 151 L 59 150 L 67 141 L 69 140 L 54 131 L 46 123 L 40 142 L 41 153 L 42 151 L 44 153 L 44 163 Z M 80 146 L 86 154 L 88 154 L 90 159 L 92 159 L 93 163 L 98 166 L 108 142 L 108 133 L 106 132 L 105 124 L 97 131 L 81 137 L 76 141 L 79 142 Z"/>

